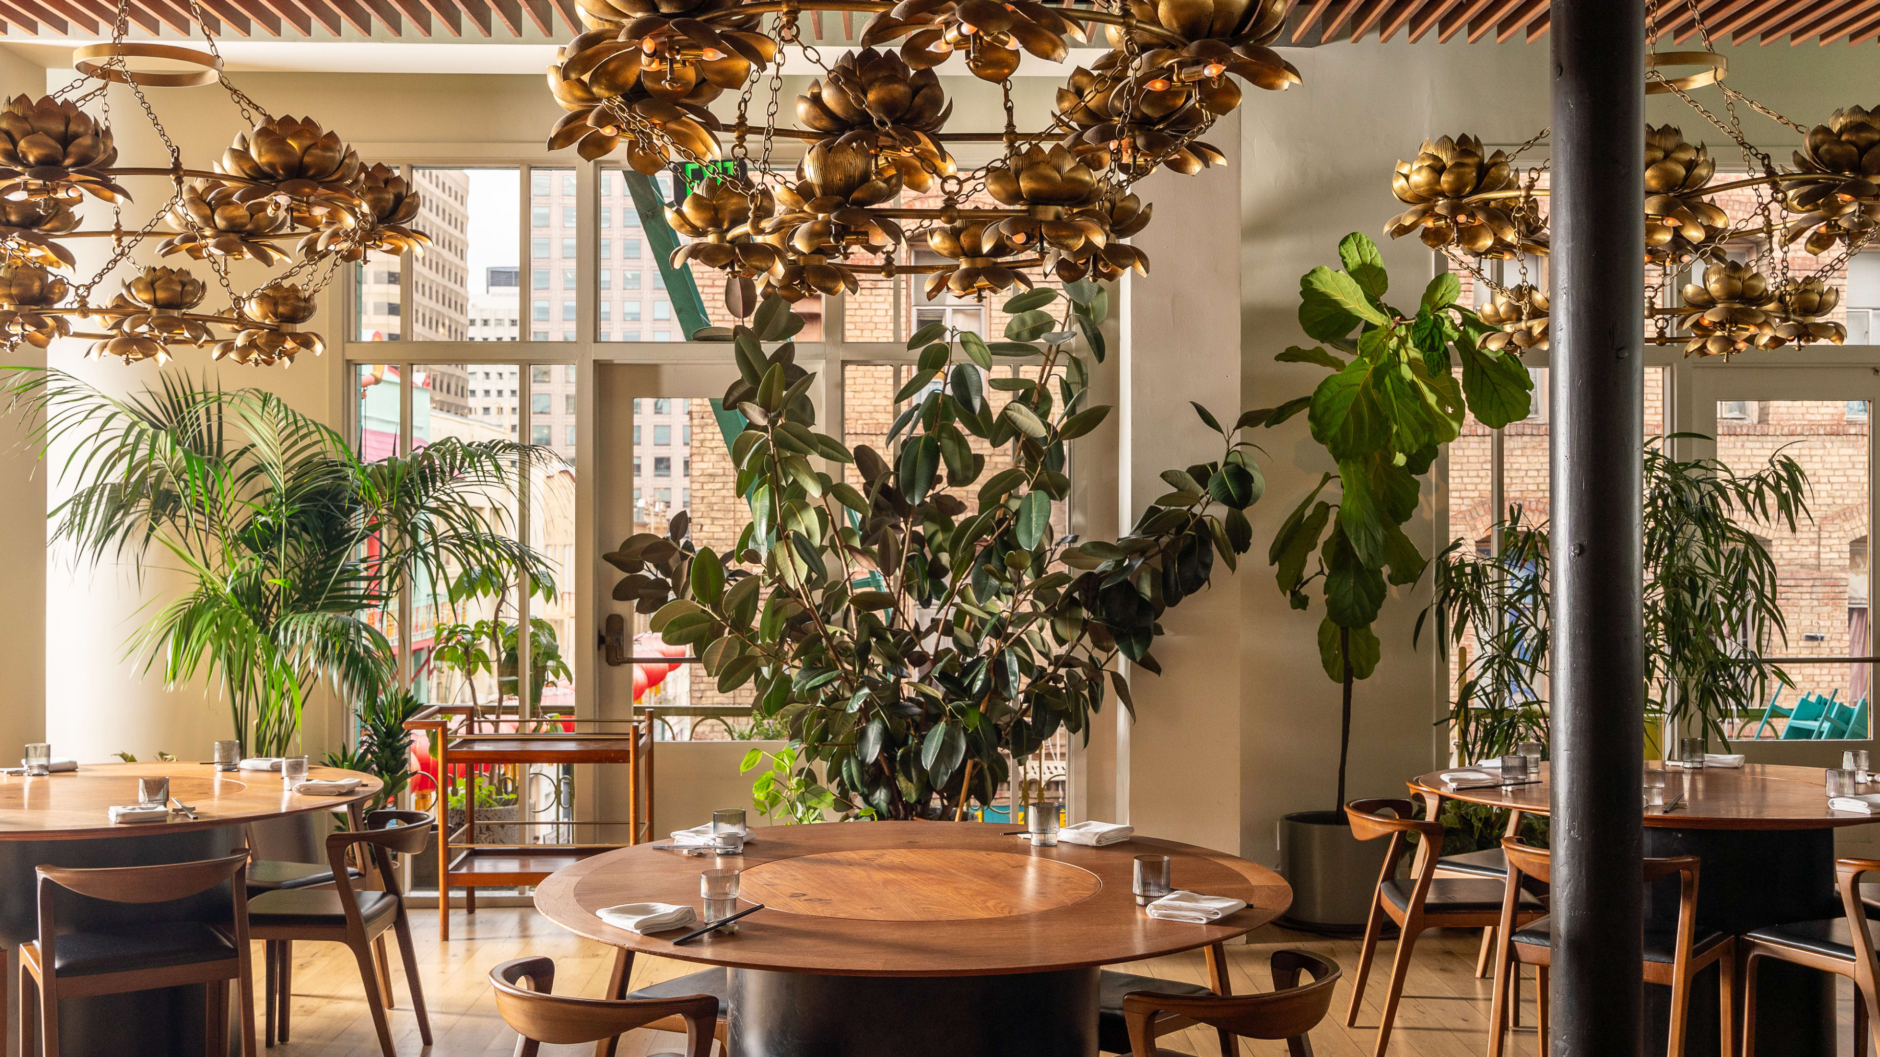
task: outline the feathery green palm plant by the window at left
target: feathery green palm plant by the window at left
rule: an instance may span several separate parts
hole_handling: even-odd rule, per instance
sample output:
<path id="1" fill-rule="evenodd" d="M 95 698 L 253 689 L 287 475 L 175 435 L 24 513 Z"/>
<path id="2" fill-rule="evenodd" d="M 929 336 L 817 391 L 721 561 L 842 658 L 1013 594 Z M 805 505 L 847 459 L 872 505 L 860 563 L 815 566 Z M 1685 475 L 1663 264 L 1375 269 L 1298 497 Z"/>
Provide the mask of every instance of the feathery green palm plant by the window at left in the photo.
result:
<path id="1" fill-rule="evenodd" d="M 284 754 L 321 679 L 355 702 L 399 690 L 370 615 L 402 591 L 462 568 L 549 579 L 541 555 L 504 534 L 500 498 L 525 459 L 553 453 L 446 438 L 365 463 L 261 389 L 164 374 L 118 399 L 58 371 L 19 371 L 11 410 L 39 423 L 41 451 L 70 448 L 53 542 L 79 562 L 113 559 L 139 577 L 169 562 L 188 577 L 152 602 L 128 649 L 147 670 L 162 664 L 169 686 L 220 683 L 244 754 Z"/>

